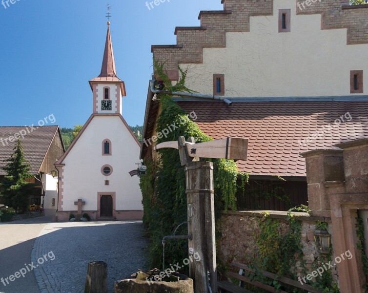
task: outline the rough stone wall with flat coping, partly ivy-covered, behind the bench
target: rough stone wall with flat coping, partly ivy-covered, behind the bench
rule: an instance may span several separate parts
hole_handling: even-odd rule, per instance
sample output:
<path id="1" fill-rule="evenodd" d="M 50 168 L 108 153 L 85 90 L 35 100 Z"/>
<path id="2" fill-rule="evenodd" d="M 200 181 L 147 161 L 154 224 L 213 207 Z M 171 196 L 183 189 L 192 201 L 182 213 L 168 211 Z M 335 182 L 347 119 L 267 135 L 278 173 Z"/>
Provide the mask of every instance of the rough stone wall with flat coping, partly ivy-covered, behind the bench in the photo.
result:
<path id="1" fill-rule="evenodd" d="M 303 260 L 307 267 L 307 272 L 311 272 L 313 262 L 317 261 L 319 252 L 313 238 L 316 230 L 316 222 L 328 223 L 328 232 L 331 234 L 331 219 L 328 217 L 310 216 L 303 212 L 292 212 L 295 219 L 302 221 L 301 243 L 303 245 Z M 258 254 L 256 235 L 259 233 L 259 220 L 265 215 L 264 211 L 236 211 L 226 212 L 221 219 L 221 238 L 218 239 L 218 262 L 224 267 L 232 261 L 243 264 L 251 264 L 251 260 Z M 280 235 L 285 234 L 289 229 L 286 221 L 287 212 L 269 211 L 269 217 L 280 222 Z M 270 244 L 272 245 L 272 244 Z M 332 255 L 335 257 L 332 243 Z M 304 276 L 301 263 L 295 263 L 295 272 L 298 276 Z M 336 269 L 332 269 L 332 279 L 337 280 Z"/>

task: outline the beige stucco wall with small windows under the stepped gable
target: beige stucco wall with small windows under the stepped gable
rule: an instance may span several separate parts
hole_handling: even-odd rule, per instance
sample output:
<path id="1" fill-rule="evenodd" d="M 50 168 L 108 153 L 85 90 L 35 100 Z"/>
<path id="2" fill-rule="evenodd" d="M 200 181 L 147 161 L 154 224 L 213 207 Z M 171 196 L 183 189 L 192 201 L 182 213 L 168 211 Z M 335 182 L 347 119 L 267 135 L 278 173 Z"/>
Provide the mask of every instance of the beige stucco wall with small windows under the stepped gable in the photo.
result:
<path id="1" fill-rule="evenodd" d="M 312 5 L 319 5 L 319 1 Z M 278 32 L 279 9 L 291 9 L 291 32 Z M 213 94 L 213 74 L 225 74 L 225 96 L 350 95 L 350 70 L 364 70 L 368 44 L 347 45 L 347 29 L 321 30 L 321 15 L 296 15 L 295 0 L 274 1 L 273 16 L 250 18 L 250 32 L 226 34 L 226 48 L 204 48 L 188 68 L 187 86 Z"/>

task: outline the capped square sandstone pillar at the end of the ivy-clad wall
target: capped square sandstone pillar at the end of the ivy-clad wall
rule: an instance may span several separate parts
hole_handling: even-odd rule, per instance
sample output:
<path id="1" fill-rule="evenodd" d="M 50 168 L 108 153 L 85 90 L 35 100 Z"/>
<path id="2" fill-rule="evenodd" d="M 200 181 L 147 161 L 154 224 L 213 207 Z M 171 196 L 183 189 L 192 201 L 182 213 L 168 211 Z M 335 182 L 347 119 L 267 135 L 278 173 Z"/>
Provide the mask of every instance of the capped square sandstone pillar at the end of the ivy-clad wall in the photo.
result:
<path id="1" fill-rule="evenodd" d="M 306 158 L 310 214 L 330 217 L 329 200 L 324 183 L 344 181 L 343 150 L 316 149 L 301 155 Z"/>

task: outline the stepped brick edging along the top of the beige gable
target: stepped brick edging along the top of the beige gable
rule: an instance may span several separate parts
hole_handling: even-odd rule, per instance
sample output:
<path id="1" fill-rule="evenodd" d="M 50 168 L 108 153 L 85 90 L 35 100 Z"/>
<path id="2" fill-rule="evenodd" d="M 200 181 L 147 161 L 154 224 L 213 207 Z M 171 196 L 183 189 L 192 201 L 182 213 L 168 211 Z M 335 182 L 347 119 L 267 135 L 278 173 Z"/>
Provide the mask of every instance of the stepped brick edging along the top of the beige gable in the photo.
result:
<path id="1" fill-rule="evenodd" d="M 222 3 L 223 11 L 200 12 L 201 26 L 176 27 L 176 45 L 152 45 L 154 60 L 165 63 L 171 80 L 179 79 L 179 63 L 203 63 L 203 48 L 225 47 L 226 32 L 249 32 L 251 16 L 273 15 L 273 0 L 222 0 Z M 348 44 L 368 43 L 368 5 L 348 6 L 348 0 L 322 0 L 303 11 L 296 9 L 297 15 L 320 13 L 322 29 L 348 28 Z"/>

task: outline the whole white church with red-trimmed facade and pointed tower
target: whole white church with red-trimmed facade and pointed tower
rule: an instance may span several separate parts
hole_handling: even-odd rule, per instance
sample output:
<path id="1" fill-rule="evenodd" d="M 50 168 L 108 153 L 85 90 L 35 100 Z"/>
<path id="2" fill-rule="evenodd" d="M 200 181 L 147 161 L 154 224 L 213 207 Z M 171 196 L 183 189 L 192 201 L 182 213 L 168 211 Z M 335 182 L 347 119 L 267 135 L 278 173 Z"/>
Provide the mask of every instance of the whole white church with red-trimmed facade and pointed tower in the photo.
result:
<path id="1" fill-rule="evenodd" d="M 108 23 L 101 74 L 89 81 L 93 114 L 55 166 L 59 171 L 58 221 L 70 213 L 93 220 L 143 217 L 139 178 L 131 177 L 140 142 L 122 116 L 124 82 L 116 75 Z"/>

